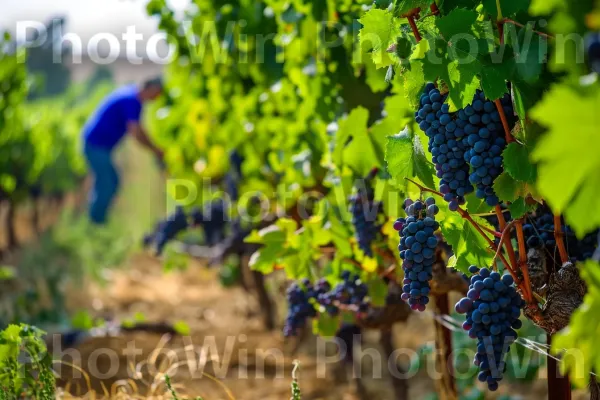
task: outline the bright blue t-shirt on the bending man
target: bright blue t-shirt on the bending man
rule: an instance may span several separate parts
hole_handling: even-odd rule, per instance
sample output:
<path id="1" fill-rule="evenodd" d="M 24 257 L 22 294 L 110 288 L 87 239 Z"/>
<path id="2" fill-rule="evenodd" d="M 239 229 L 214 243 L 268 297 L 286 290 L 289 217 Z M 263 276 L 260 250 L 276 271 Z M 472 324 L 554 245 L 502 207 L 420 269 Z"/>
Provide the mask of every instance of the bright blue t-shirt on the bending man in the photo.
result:
<path id="1" fill-rule="evenodd" d="M 136 85 L 123 86 L 108 95 L 83 128 L 86 143 L 112 149 L 127 133 L 129 122 L 138 122 L 142 103 Z"/>

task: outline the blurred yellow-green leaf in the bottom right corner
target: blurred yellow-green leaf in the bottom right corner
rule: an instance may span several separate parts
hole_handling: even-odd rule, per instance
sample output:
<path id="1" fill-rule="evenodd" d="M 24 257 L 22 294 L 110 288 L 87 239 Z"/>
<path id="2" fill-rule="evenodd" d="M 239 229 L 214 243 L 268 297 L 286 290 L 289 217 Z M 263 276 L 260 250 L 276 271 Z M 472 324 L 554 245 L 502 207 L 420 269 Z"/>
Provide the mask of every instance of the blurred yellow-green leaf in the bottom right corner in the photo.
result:
<path id="1" fill-rule="evenodd" d="M 583 304 L 573 313 L 569 325 L 552 337 L 552 352 L 560 355 L 561 370 L 569 373 L 578 387 L 586 387 L 590 372 L 600 368 L 600 265 L 587 261 L 579 267 L 581 277 L 588 286 Z M 567 349 L 567 354 L 563 354 Z M 570 357 L 569 353 L 575 357 Z M 582 359 L 583 358 L 583 359 Z"/>

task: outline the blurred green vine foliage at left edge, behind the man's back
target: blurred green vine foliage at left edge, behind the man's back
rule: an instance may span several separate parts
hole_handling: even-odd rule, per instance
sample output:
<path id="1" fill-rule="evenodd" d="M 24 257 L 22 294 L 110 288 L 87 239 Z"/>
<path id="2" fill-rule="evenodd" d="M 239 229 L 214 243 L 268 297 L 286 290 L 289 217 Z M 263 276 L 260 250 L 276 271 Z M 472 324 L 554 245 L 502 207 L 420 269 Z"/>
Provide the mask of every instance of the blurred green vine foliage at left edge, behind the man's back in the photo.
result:
<path id="1" fill-rule="evenodd" d="M 0 41 L 0 200 L 18 203 L 30 196 L 60 195 L 85 175 L 79 138 L 100 96 L 76 86 L 59 98 L 27 102 L 30 80 L 20 62 L 24 50 Z"/>

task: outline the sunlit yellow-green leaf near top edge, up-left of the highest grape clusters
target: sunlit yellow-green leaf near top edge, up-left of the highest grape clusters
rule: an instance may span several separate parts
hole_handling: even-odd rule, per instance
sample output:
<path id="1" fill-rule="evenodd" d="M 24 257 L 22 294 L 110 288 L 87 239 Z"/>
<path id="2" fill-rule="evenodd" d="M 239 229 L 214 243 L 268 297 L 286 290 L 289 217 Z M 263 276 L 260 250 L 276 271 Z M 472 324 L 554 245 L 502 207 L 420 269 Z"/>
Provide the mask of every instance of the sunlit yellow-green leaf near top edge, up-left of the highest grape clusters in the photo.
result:
<path id="1" fill-rule="evenodd" d="M 359 22 L 363 25 L 358 34 L 362 51 L 371 52 L 377 68 L 392 65 L 387 49 L 400 32 L 394 15 L 387 10 L 372 8 L 360 17 Z"/>

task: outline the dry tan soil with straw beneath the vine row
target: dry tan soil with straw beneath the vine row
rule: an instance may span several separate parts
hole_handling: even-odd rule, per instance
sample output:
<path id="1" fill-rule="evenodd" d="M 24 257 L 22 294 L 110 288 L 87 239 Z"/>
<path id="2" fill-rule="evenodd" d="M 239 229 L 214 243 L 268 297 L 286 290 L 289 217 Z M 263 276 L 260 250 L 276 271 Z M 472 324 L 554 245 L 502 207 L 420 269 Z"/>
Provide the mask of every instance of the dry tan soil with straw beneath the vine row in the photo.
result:
<path id="1" fill-rule="evenodd" d="M 315 355 L 319 350 L 314 337 L 304 340 L 297 354 L 292 354 L 295 344 L 286 343 L 280 330 L 263 329 L 252 296 L 241 288 L 222 288 L 216 271 L 199 262 L 192 261 L 186 271 L 165 274 L 159 260 L 138 255 L 127 268 L 113 272 L 108 285 L 90 284 L 71 288 L 70 292 L 73 309 L 88 309 L 98 316 L 113 315 L 121 320 L 141 313 L 155 322 L 185 321 L 191 330 L 186 337 L 169 338 L 146 332 L 86 340 L 77 350 L 82 368 L 91 373 L 91 386 L 99 393 L 103 388 L 111 391 L 112 386 L 112 390 L 121 387 L 150 395 L 164 389 L 161 372 L 168 372 L 185 395 L 210 400 L 288 399 L 293 360 L 298 359 L 303 399 L 359 398 L 355 382 L 352 379 L 344 382 L 340 378 L 344 374 L 333 363 L 317 364 Z M 278 301 L 281 302 L 281 297 Z M 395 397 L 389 372 L 383 368 L 381 377 L 377 377 L 380 364 L 371 357 L 373 350 L 380 353 L 378 335 L 377 332 L 364 335 L 362 382 L 367 398 L 392 400 Z M 411 316 L 407 323 L 395 327 L 397 348 L 416 350 L 432 340 L 432 322 L 426 315 Z M 128 346 L 130 351 L 134 346 L 140 354 L 128 358 Z M 157 348 L 163 349 L 161 354 Z M 400 361 L 406 363 L 407 358 L 400 357 Z M 206 375 L 197 372 L 198 368 Z M 433 364 L 429 363 L 408 379 L 409 399 L 425 399 L 434 392 L 435 382 L 427 372 L 431 368 Z M 63 371 L 69 374 L 68 367 Z M 487 398 L 501 394 L 521 399 L 545 398 L 543 374 L 542 371 L 541 379 L 532 384 L 503 383 L 498 394 Z M 85 379 L 70 383 L 72 392 L 77 392 L 77 386 L 88 386 Z"/>

